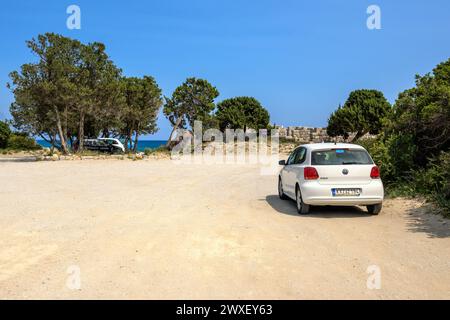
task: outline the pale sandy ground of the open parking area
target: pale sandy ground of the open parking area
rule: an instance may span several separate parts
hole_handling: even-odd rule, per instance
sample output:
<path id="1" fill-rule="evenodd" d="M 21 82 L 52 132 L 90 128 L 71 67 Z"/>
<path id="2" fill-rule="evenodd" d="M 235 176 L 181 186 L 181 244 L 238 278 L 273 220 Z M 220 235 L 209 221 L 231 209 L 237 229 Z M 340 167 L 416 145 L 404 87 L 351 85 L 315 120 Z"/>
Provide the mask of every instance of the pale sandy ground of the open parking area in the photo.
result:
<path id="1" fill-rule="evenodd" d="M 450 298 L 450 223 L 420 203 L 276 194 L 255 165 L 0 162 L 0 298 Z"/>

